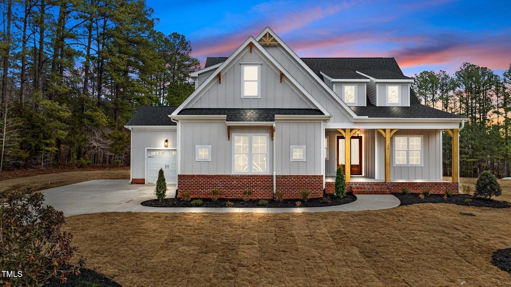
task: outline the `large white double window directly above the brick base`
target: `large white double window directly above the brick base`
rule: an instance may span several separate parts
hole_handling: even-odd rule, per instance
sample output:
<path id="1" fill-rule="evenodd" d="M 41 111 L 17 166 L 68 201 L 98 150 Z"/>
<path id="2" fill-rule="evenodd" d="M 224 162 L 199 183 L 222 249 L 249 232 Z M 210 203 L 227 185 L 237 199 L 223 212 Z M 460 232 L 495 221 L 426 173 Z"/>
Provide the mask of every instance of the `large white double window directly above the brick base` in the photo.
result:
<path id="1" fill-rule="evenodd" d="M 267 173 L 268 135 L 234 135 L 235 173 Z"/>

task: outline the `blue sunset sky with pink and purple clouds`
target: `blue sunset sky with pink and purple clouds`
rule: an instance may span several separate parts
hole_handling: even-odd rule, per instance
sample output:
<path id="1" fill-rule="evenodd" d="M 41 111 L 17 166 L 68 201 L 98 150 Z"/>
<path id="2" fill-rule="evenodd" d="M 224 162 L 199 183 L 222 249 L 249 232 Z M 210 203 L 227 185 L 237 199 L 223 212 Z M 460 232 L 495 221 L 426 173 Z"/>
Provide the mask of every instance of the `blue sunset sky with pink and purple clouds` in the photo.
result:
<path id="1" fill-rule="evenodd" d="M 156 29 L 192 55 L 228 57 L 270 27 L 299 57 L 394 57 L 406 76 L 454 74 L 462 63 L 501 75 L 511 63 L 511 0 L 147 0 Z"/>

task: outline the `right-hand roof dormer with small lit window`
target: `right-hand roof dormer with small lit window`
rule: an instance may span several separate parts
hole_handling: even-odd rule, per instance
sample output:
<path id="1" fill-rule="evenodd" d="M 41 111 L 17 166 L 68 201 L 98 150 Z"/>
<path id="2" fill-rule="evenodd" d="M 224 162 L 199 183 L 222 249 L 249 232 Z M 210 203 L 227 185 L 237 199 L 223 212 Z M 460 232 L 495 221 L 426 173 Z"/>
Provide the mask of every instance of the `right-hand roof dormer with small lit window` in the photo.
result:
<path id="1" fill-rule="evenodd" d="M 367 98 L 377 107 L 409 107 L 410 84 L 413 80 L 389 70 L 357 70 L 367 77 Z"/>

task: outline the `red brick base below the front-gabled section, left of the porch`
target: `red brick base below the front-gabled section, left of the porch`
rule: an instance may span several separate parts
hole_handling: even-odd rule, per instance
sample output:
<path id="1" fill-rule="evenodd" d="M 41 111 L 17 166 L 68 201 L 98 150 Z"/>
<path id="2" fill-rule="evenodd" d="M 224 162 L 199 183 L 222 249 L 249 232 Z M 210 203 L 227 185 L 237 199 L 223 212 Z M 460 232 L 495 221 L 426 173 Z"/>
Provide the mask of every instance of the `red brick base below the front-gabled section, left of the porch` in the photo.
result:
<path id="1" fill-rule="evenodd" d="M 252 190 L 251 199 L 273 198 L 272 175 L 178 175 L 177 196 L 192 192 L 195 198 L 210 198 L 211 189 L 222 191 L 221 198 L 242 198 L 243 190 Z M 277 175 L 276 188 L 284 198 L 300 198 L 300 189 L 311 190 L 310 198 L 323 196 L 322 175 Z"/>

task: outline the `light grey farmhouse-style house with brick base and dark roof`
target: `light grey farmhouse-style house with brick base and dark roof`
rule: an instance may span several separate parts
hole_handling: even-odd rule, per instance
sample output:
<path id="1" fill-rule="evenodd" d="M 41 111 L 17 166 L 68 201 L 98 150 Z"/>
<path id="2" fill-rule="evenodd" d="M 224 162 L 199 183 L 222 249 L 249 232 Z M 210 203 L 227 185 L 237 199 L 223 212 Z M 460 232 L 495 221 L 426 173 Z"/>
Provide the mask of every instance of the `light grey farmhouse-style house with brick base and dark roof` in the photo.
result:
<path id="1" fill-rule="evenodd" d="M 207 58 L 179 107 L 141 107 L 131 130 L 131 183 L 160 168 L 178 196 L 299 198 L 347 189 L 458 192 L 459 130 L 467 118 L 421 105 L 393 58 L 299 58 L 270 28 L 227 58 Z M 453 138 L 442 180 L 442 132 Z"/>

